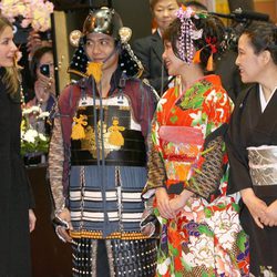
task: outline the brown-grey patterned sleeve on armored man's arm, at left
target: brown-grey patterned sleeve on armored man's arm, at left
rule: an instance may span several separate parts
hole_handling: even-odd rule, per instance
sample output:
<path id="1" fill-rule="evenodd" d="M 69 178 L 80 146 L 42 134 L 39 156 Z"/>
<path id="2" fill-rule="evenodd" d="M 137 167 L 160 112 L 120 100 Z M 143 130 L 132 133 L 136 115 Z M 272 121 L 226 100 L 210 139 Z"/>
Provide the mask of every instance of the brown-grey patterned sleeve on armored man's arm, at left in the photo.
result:
<path id="1" fill-rule="evenodd" d="M 63 182 L 62 182 L 63 162 L 64 162 L 64 148 L 63 148 L 61 119 L 59 116 L 54 119 L 54 126 L 49 151 L 49 177 L 50 177 L 50 187 L 54 201 L 55 212 L 63 209 L 65 206 L 65 197 L 63 196 Z"/>

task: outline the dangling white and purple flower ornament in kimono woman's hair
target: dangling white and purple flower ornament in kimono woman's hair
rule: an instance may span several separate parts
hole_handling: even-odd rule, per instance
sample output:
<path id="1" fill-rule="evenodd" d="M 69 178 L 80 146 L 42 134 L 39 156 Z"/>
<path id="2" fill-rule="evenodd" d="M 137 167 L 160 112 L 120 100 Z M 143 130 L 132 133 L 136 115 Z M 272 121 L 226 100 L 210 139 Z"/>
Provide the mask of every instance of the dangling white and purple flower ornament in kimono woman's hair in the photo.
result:
<path id="1" fill-rule="evenodd" d="M 178 55 L 181 60 L 191 64 L 194 58 L 194 40 L 202 38 L 203 30 L 196 30 L 192 18 L 198 19 L 198 14 L 191 7 L 182 6 L 177 12 L 177 18 L 181 21 L 181 35 L 178 38 Z"/>

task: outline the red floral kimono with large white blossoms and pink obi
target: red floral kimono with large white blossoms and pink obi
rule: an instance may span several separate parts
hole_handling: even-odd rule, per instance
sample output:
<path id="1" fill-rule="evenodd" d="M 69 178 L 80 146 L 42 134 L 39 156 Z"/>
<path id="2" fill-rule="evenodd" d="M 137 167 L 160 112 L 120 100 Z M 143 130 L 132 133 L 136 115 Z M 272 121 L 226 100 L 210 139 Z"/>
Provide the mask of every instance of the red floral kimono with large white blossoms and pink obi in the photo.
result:
<path id="1" fill-rule="evenodd" d="M 248 242 L 238 218 L 238 195 L 226 195 L 223 136 L 233 104 L 216 75 L 160 100 L 152 130 L 150 198 L 157 187 L 170 197 L 194 193 L 176 218 L 162 218 L 156 276 L 248 276 Z M 155 201 L 154 201 L 155 207 Z"/>

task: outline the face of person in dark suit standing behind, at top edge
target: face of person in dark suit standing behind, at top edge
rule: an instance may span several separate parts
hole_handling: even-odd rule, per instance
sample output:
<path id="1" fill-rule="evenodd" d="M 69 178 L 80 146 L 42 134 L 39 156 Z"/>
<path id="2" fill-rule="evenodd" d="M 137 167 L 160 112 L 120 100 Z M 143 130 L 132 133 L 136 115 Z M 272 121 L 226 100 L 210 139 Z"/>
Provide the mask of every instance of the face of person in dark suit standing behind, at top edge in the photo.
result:
<path id="1" fill-rule="evenodd" d="M 176 0 L 160 0 L 154 6 L 153 13 L 157 28 L 163 32 L 176 18 L 178 4 Z"/>

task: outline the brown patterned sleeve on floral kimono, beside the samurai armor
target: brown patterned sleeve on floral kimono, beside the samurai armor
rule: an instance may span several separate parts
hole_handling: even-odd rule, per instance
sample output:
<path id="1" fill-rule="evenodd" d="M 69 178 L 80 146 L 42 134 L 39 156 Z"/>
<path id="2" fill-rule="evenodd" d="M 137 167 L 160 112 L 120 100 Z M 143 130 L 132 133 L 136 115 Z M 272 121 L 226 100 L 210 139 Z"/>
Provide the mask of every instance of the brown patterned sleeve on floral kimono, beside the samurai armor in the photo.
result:
<path id="1" fill-rule="evenodd" d="M 143 198 L 150 198 L 155 194 L 155 189 L 158 187 L 165 187 L 165 170 L 164 162 L 155 148 L 152 137 L 148 138 L 148 162 L 147 162 L 148 173 L 147 183 L 142 192 Z"/>

